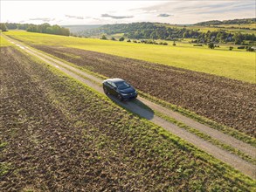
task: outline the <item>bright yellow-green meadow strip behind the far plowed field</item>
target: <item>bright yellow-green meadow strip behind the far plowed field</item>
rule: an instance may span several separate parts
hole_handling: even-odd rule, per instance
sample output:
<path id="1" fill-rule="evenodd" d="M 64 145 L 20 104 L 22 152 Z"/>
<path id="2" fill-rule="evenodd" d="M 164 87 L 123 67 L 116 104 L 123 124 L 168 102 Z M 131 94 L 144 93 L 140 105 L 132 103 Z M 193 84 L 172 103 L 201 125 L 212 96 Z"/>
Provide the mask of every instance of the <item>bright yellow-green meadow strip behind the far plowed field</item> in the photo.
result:
<path id="1" fill-rule="evenodd" d="M 99 51 L 126 58 L 136 58 L 163 65 L 205 72 L 230 79 L 256 83 L 255 53 L 247 51 L 211 50 L 190 44 L 144 45 L 96 38 L 73 38 L 26 31 L 8 31 L 5 35 L 31 45 L 56 45 Z"/>

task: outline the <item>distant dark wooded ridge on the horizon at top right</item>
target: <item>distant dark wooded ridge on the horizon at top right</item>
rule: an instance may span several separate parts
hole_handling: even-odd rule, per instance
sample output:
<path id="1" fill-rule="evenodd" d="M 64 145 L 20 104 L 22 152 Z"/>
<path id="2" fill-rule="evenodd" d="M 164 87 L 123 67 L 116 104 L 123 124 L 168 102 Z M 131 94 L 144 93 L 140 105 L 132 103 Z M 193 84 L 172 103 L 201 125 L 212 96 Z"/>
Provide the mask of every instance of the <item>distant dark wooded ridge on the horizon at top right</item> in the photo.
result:
<path id="1" fill-rule="evenodd" d="M 194 25 L 209 26 L 209 25 L 219 25 L 219 24 L 255 24 L 255 23 L 256 23 L 256 18 L 242 18 L 242 19 L 232 19 L 232 20 L 224 20 L 224 21 L 211 20 L 211 21 L 200 22 Z"/>

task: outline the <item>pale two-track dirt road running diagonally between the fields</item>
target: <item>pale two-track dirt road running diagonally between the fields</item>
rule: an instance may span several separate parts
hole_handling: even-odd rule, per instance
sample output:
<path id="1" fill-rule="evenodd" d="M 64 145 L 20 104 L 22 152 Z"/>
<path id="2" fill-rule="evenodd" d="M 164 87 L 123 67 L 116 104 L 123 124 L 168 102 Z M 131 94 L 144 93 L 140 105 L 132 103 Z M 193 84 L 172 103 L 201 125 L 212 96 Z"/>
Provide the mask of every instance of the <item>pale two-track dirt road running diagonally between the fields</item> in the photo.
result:
<path id="1" fill-rule="evenodd" d="M 17 45 L 23 51 L 26 51 L 27 53 L 37 58 L 40 58 L 41 60 L 43 60 L 45 63 L 49 65 L 55 66 L 62 72 L 66 72 L 66 74 L 68 74 L 69 76 L 73 77 L 74 79 L 80 80 L 81 82 L 85 83 L 87 86 L 92 87 L 97 92 L 103 93 L 102 87 L 99 86 L 99 83 L 102 82 L 102 79 L 94 77 L 92 74 L 82 72 L 71 65 L 67 65 L 64 62 L 59 61 L 58 59 L 49 57 L 48 55 L 40 51 L 31 49 L 31 47 L 28 47 L 27 45 L 24 45 L 18 42 L 17 40 L 13 40 L 7 37 L 6 39 L 8 39 L 10 43 Z M 232 147 L 238 148 L 240 151 L 250 155 L 253 158 L 255 158 L 255 155 L 256 155 L 255 147 L 252 147 L 242 141 L 238 141 L 229 135 L 218 132 L 218 130 L 212 129 L 211 127 L 207 127 L 203 124 L 200 124 L 195 120 L 191 120 L 180 113 L 173 112 L 168 108 L 152 103 L 148 99 L 143 99 L 141 97 L 138 97 L 138 99 L 135 101 L 127 101 L 127 102 L 120 102 L 119 100 L 114 99 L 112 97 L 111 99 L 114 100 L 114 102 L 117 103 L 118 105 L 127 108 L 129 111 L 136 113 L 141 117 L 147 120 L 150 120 L 156 125 L 169 130 L 172 134 L 176 134 L 183 140 L 190 142 L 196 147 L 204 150 L 206 153 L 216 157 L 218 160 L 224 161 L 225 163 L 229 164 L 233 168 L 236 168 L 239 171 L 241 171 L 243 174 L 249 175 L 253 179 L 256 178 L 256 173 L 255 173 L 256 168 L 252 163 L 242 160 L 241 158 L 239 158 L 239 156 L 231 154 L 219 147 L 216 147 L 208 141 L 204 141 L 203 139 L 197 137 L 195 134 L 190 134 L 188 131 L 184 130 L 183 128 L 177 127 L 176 125 L 170 123 L 167 120 L 163 120 L 163 118 L 156 116 L 154 111 L 163 113 L 167 116 L 170 116 L 176 120 L 183 122 L 184 124 L 190 127 L 196 128 L 197 130 L 203 132 L 204 134 L 210 135 L 213 139 L 221 141 Z M 143 107 L 142 105 L 138 105 L 137 104 L 138 102 L 140 102 L 142 105 L 148 106 L 152 110 L 149 110 Z"/>

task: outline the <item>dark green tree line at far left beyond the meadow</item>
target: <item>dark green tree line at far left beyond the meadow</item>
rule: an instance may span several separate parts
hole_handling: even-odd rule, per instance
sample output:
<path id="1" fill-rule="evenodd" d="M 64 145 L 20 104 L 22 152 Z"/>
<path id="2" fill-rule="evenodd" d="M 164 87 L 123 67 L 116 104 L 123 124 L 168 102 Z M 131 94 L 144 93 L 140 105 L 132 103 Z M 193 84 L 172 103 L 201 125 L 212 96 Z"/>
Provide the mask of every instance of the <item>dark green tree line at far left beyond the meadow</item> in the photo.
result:
<path id="1" fill-rule="evenodd" d="M 47 33 L 54 35 L 69 36 L 70 31 L 64 27 L 60 27 L 58 24 L 15 24 L 15 23 L 2 23 L 0 24 L 2 31 L 7 30 L 25 30 L 30 32 Z"/>

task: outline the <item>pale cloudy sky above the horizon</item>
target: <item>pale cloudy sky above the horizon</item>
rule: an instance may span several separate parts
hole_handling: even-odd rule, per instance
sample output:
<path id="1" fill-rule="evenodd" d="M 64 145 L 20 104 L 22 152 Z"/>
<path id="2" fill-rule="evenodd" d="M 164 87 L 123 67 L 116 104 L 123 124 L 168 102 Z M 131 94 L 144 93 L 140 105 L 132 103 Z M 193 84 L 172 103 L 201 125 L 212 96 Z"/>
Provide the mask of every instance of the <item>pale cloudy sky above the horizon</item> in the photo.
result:
<path id="1" fill-rule="evenodd" d="M 0 5 L 1 23 L 21 24 L 196 24 L 256 17 L 255 0 L 0 0 Z"/>

